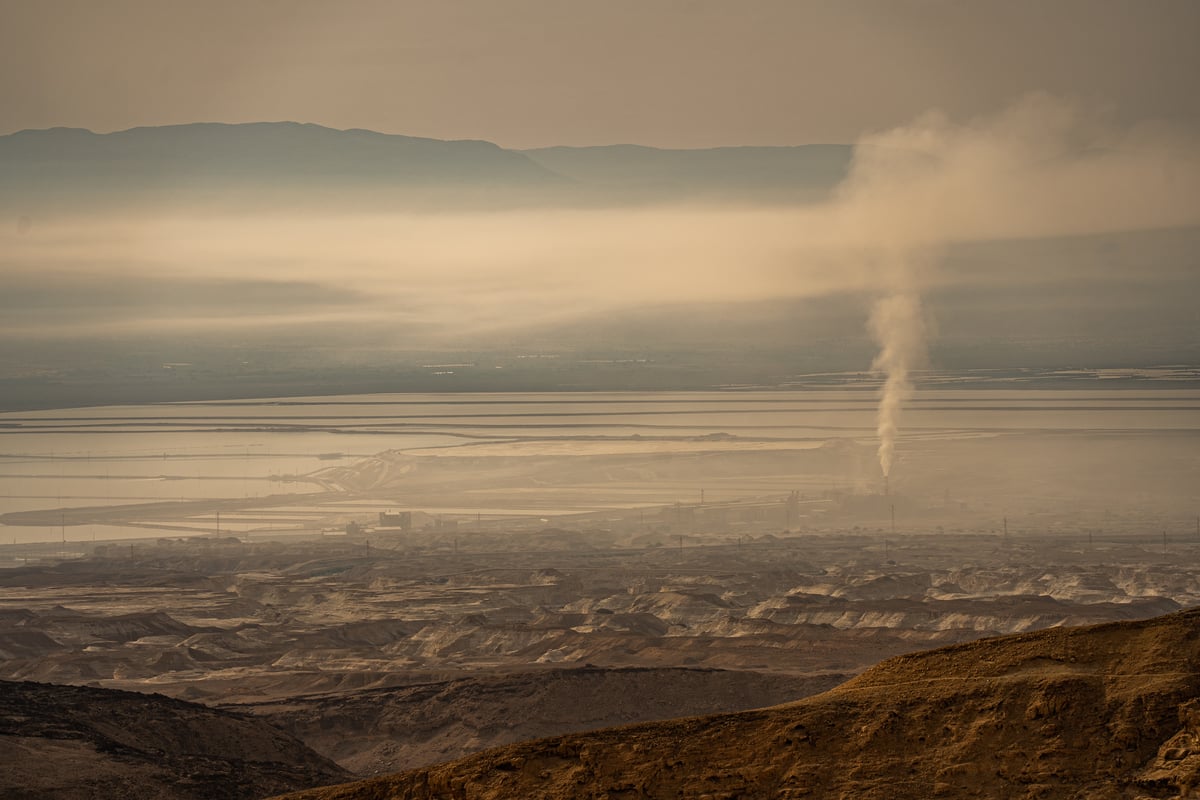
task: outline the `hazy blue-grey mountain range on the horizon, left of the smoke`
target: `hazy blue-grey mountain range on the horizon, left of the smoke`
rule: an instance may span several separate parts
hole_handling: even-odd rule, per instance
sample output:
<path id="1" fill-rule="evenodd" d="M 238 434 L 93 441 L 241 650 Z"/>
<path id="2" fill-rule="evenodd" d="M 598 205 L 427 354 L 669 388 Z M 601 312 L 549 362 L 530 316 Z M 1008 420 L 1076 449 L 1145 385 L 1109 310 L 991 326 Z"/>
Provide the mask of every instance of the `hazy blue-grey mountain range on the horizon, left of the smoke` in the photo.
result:
<path id="1" fill-rule="evenodd" d="M 524 201 L 734 196 L 823 197 L 846 174 L 848 145 L 659 150 L 637 145 L 506 150 L 298 122 L 193 124 L 115 133 L 82 128 L 0 137 L 0 200 L 83 192 L 187 199 L 300 188 L 446 191 Z M 347 199 L 347 198 L 340 198 Z"/>

